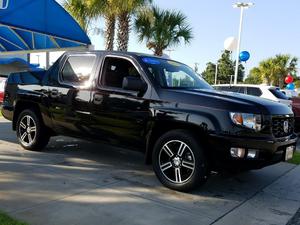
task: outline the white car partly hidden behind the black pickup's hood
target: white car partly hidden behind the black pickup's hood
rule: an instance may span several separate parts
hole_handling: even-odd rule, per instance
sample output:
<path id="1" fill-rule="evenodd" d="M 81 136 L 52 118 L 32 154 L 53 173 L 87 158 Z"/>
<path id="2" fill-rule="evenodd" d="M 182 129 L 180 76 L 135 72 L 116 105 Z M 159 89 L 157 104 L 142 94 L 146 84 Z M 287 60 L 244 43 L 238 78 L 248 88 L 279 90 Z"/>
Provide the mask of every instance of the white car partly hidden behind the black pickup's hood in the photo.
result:
<path id="1" fill-rule="evenodd" d="M 236 92 L 246 95 L 257 96 L 269 100 L 273 100 L 279 103 L 283 103 L 289 107 L 292 107 L 292 101 L 288 96 L 280 91 L 279 88 L 267 85 L 250 85 L 250 84 L 220 84 L 214 85 L 216 90 Z"/>

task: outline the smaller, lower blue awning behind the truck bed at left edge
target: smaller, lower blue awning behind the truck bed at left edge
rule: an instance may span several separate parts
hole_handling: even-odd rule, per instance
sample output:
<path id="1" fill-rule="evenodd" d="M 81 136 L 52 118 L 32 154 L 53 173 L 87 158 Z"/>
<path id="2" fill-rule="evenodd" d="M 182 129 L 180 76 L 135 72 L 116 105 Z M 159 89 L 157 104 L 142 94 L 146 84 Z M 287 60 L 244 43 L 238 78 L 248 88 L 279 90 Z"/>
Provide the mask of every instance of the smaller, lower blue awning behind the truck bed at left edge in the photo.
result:
<path id="1" fill-rule="evenodd" d="M 38 66 L 39 65 L 29 64 L 20 58 L 0 58 L 0 76 L 9 75 L 12 72 L 41 70 Z"/>

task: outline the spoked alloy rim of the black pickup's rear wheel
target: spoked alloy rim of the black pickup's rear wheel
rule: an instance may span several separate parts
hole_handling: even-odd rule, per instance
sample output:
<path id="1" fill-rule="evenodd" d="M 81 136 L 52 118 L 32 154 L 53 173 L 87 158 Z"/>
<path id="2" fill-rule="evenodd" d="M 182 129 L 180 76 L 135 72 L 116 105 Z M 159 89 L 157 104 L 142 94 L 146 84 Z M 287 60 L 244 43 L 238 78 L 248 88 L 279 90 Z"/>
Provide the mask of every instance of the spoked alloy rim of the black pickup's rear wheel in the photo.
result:
<path id="1" fill-rule="evenodd" d="M 25 115 L 20 120 L 19 138 L 24 146 L 30 146 L 35 141 L 36 123 L 34 119 L 29 115 Z"/>

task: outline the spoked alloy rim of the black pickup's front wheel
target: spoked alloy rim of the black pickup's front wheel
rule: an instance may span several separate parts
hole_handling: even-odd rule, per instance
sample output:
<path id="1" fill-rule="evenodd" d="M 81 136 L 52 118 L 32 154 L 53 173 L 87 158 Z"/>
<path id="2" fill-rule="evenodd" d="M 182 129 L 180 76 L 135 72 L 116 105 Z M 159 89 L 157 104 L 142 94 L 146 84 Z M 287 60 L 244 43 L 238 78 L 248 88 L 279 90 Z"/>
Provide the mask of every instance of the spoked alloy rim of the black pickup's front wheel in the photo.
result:
<path id="1" fill-rule="evenodd" d="M 169 141 L 159 152 L 159 166 L 169 181 L 175 184 L 185 183 L 195 172 L 194 153 L 182 141 Z"/>

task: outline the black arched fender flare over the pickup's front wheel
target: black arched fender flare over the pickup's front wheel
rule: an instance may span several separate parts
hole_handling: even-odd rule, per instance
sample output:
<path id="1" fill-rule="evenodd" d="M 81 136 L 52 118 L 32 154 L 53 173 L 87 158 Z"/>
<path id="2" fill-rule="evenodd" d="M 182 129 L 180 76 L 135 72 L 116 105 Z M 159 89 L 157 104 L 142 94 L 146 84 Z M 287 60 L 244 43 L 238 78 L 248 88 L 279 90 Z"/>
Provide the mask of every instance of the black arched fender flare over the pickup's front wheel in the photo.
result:
<path id="1" fill-rule="evenodd" d="M 185 122 L 157 122 L 157 124 L 153 126 L 151 132 L 148 134 L 145 156 L 146 164 L 152 163 L 152 152 L 156 141 L 162 135 L 172 130 L 190 131 L 191 133 L 199 137 L 205 137 L 207 135 L 207 132 L 205 132 L 200 126 L 194 124 L 189 124 Z M 203 143 L 201 144 L 206 145 L 205 140 L 206 139 L 203 138 Z"/>

